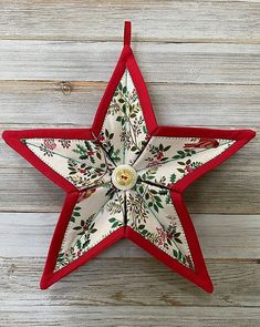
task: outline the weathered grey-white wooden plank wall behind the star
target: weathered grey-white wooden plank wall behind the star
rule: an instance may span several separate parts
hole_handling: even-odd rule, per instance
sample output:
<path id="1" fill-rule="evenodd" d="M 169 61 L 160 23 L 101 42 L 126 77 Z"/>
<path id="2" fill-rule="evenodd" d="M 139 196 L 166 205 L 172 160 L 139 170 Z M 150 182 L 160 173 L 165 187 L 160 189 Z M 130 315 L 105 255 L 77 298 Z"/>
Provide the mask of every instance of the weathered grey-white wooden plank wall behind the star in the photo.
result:
<path id="1" fill-rule="evenodd" d="M 0 0 L 1 130 L 91 125 L 124 20 L 159 124 L 260 131 L 258 0 Z M 41 292 L 64 193 L 0 150 L 0 326 L 260 325 L 259 137 L 186 192 L 212 295 L 127 241 Z"/>

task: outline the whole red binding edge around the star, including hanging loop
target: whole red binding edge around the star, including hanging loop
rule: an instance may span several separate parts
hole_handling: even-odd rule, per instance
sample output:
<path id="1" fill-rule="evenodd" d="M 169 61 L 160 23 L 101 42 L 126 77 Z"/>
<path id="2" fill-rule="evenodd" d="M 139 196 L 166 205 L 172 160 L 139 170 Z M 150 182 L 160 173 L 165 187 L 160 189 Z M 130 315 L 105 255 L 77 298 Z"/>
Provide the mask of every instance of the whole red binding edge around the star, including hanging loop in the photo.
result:
<path id="1" fill-rule="evenodd" d="M 69 264 L 64 268 L 54 272 L 56 264 L 58 254 L 64 237 L 64 233 L 67 223 L 71 217 L 71 213 L 79 197 L 79 190 L 76 190 L 71 183 L 69 183 L 61 175 L 55 173 L 51 167 L 43 163 L 34 153 L 32 153 L 22 141 L 22 139 L 33 139 L 33 137 L 59 137 L 59 139 L 77 139 L 77 140 L 93 140 L 93 134 L 98 135 L 103 125 L 103 121 L 114 94 L 114 91 L 125 71 L 127 69 L 131 73 L 133 82 L 135 84 L 141 105 L 144 112 L 145 122 L 147 125 L 148 134 L 150 136 L 180 136 L 180 137 L 212 137 L 212 139 L 227 139 L 235 140 L 236 142 L 223 153 L 217 157 L 210 160 L 205 165 L 198 167 L 196 171 L 189 173 L 183 180 L 171 185 L 171 200 L 175 208 L 179 215 L 183 228 L 186 234 L 186 238 L 191 252 L 193 260 L 195 264 L 195 272 L 190 270 L 186 266 L 178 263 L 176 259 L 171 258 L 169 255 L 164 253 L 154 246 L 149 241 L 145 239 L 141 234 L 132 229 L 129 226 L 119 227 L 105 239 L 100 242 L 96 246 L 91 248 L 87 253 L 81 256 L 79 259 Z M 102 251 L 107 248 L 113 243 L 117 242 L 119 238 L 127 237 L 134 243 L 138 244 L 145 251 L 150 253 L 155 258 L 163 262 L 170 269 L 177 272 L 181 276 L 186 277 L 194 284 L 198 285 L 206 292 L 211 293 L 214 287 L 208 275 L 205 260 L 201 254 L 201 249 L 198 243 L 198 238 L 191 223 L 190 216 L 186 210 L 181 193 L 190 185 L 195 180 L 199 178 L 207 172 L 211 171 L 214 167 L 221 164 L 229 156 L 235 154 L 240 147 L 248 143 L 256 132 L 252 130 L 214 130 L 204 127 L 180 127 L 180 126 L 158 126 L 156 117 L 150 104 L 150 99 L 146 84 L 144 82 L 143 75 L 136 63 L 135 57 L 131 49 L 131 22 L 125 22 L 124 30 L 124 48 L 122 50 L 121 57 L 114 69 L 112 78 L 106 86 L 105 93 L 98 105 L 92 129 L 69 129 L 69 130 L 28 130 L 28 131 L 4 131 L 2 134 L 3 140 L 13 147 L 18 153 L 20 153 L 28 162 L 30 162 L 35 168 L 43 173 L 48 178 L 54 182 L 56 185 L 62 187 L 67 194 L 66 198 L 59 217 L 52 242 L 50 245 L 45 267 L 43 270 L 40 287 L 45 289 L 52 284 L 76 269 L 77 267 L 84 265 L 87 260 L 95 257 Z"/>

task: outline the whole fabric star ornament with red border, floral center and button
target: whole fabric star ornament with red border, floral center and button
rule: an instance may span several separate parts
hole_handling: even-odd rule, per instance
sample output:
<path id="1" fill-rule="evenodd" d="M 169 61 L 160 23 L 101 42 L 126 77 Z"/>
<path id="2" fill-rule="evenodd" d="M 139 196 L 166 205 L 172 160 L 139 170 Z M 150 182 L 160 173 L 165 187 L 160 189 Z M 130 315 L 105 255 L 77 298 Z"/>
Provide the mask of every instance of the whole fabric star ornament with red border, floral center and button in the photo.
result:
<path id="1" fill-rule="evenodd" d="M 92 127 L 3 133 L 11 147 L 66 192 L 40 287 L 126 237 L 211 293 L 183 193 L 254 134 L 158 126 L 131 48 L 131 22 L 125 22 L 124 47 Z"/>

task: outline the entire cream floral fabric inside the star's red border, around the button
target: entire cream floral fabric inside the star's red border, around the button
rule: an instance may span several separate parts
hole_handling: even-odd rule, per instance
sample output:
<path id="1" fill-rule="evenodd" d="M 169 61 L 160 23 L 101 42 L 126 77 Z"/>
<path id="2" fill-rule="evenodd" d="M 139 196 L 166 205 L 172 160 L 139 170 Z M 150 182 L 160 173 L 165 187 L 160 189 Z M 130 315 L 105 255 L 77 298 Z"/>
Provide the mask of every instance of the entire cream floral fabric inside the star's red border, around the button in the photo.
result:
<path id="1" fill-rule="evenodd" d="M 194 269 L 170 188 L 235 141 L 148 135 L 138 94 L 126 70 L 101 133 L 93 141 L 25 139 L 23 142 L 80 191 L 55 270 L 122 226 L 132 227 L 171 258 Z M 129 191 L 118 191 L 112 183 L 112 172 L 121 164 L 132 165 L 137 173 L 137 183 Z"/>

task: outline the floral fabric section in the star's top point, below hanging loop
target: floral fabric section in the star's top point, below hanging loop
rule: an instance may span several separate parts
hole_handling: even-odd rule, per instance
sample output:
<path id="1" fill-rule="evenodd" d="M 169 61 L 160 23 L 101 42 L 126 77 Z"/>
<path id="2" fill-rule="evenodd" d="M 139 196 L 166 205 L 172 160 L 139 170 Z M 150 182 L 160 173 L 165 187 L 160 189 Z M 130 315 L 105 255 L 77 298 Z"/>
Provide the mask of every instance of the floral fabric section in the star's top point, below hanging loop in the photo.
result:
<path id="1" fill-rule="evenodd" d="M 116 164 L 133 164 L 147 143 L 143 111 L 128 70 L 115 90 L 98 140 Z"/>

